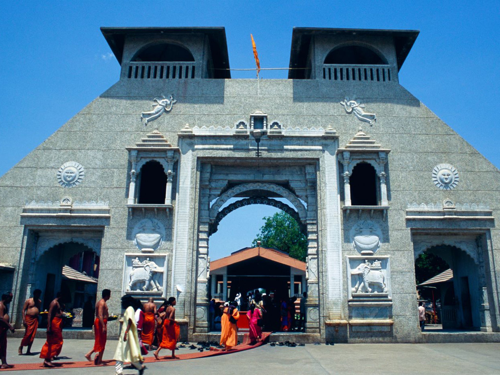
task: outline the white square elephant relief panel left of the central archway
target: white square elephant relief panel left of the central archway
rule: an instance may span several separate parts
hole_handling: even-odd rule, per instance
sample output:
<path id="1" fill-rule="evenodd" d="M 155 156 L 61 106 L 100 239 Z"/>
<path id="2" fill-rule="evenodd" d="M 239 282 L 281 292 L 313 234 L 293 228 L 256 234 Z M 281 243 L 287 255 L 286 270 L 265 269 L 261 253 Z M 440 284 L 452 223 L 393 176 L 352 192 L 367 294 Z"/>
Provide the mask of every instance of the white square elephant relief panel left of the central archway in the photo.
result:
<path id="1" fill-rule="evenodd" d="M 123 292 L 165 296 L 167 257 L 164 254 L 125 254 Z"/>

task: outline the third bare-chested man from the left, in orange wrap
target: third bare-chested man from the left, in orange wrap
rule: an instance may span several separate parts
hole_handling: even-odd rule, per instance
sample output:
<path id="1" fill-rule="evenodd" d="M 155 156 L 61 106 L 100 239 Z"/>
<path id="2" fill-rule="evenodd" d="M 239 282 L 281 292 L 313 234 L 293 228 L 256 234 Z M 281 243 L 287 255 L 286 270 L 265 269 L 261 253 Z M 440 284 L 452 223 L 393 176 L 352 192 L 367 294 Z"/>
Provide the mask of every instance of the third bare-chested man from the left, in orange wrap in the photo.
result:
<path id="1" fill-rule="evenodd" d="M 44 367 L 55 367 L 52 363 L 62 349 L 62 311 L 59 304 L 61 297 L 60 291 L 57 292 L 55 299 L 50 302 L 47 314 L 47 340 L 41 348 L 40 358 L 43 358 Z"/>

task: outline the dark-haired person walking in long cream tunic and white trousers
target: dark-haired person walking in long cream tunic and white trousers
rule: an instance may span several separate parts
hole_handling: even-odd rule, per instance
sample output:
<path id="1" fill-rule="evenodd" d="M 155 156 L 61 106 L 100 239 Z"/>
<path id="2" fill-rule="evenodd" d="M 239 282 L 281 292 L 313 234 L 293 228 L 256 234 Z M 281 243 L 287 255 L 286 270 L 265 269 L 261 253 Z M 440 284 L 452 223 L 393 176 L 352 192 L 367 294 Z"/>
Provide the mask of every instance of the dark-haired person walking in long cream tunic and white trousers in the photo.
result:
<path id="1" fill-rule="evenodd" d="M 123 362 L 130 362 L 139 371 L 139 375 L 146 368 L 142 364 L 144 358 L 140 354 L 139 337 L 135 325 L 135 304 L 135 300 L 130 295 L 121 297 L 121 308 L 125 312 L 122 321 L 120 320 L 122 323 L 121 331 L 113 357 L 116 360 L 115 373 L 119 375 L 123 372 Z"/>

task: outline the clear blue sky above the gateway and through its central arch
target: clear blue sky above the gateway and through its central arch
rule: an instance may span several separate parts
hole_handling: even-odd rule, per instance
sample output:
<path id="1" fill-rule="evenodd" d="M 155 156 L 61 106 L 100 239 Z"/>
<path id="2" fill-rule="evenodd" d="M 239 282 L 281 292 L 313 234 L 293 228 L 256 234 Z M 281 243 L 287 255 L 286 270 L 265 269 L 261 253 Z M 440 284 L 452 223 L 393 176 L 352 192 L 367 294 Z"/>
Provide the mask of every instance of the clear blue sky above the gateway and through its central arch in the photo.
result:
<path id="1" fill-rule="evenodd" d="M 254 66 L 250 32 L 262 67 L 287 67 L 293 26 L 418 29 L 400 83 L 500 166 L 492 115 L 500 102 L 500 1 L 4 0 L 0 21 L 0 175 L 118 79 L 100 26 L 224 26 L 233 68 Z M 210 237 L 211 257 L 250 245 L 270 209 L 228 215 Z M 238 222 L 247 223 L 244 232 L 231 226 Z"/>

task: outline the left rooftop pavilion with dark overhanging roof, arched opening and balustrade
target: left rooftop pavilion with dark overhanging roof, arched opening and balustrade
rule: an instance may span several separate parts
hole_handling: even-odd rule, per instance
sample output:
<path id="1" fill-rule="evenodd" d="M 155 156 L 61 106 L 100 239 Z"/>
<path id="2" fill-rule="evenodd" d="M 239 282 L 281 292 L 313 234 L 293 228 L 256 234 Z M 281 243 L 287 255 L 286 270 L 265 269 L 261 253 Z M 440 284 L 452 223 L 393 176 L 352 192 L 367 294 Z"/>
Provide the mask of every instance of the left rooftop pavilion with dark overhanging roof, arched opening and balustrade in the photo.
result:
<path id="1" fill-rule="evenodd" d="M 224 27 L 101 27 L 121 79 L 230 78 Z"/>

